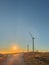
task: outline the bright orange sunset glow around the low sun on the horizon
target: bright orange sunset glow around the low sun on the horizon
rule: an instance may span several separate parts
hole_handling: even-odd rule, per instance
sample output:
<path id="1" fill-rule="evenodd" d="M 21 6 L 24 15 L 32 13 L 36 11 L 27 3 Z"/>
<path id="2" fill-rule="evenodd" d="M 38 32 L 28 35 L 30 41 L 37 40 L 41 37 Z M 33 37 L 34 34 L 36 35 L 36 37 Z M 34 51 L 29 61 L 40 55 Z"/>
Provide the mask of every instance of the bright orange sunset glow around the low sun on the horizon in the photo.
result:
<path id="1" fill-rule="evenodd" d="M 0 50 L 0 53 L 7 54 L 7 53 L 19 53 L 22 52 L 22 49 L 18 45 L 11 45 L 8 50 Z"/>

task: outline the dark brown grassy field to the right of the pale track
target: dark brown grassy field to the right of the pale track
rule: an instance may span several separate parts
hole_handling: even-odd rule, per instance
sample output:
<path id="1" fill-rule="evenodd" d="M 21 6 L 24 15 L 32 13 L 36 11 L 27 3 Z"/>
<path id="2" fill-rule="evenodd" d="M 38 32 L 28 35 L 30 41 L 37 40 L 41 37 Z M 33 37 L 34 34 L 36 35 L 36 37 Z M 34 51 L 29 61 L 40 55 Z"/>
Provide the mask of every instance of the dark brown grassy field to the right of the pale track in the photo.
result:
<path id="1" fill-rule="evenodd" d="M 49 65 L 49 53 L 25 53 L 24 61 L 26 65 Z"/>

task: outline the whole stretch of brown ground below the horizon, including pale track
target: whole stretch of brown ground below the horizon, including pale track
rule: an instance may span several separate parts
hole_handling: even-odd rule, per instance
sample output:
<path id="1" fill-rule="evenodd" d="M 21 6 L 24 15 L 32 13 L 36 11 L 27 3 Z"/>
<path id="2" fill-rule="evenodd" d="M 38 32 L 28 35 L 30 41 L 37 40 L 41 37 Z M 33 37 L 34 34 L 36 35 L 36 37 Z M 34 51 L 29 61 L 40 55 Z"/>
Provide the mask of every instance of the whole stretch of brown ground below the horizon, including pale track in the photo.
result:
<path id="1" fill-rule="evenodd" d="M 1 57 L 2 56 L 2 57 Z M 26 52 L 0 55 L 0 65 L 49 65 L 49 53 Z"/>

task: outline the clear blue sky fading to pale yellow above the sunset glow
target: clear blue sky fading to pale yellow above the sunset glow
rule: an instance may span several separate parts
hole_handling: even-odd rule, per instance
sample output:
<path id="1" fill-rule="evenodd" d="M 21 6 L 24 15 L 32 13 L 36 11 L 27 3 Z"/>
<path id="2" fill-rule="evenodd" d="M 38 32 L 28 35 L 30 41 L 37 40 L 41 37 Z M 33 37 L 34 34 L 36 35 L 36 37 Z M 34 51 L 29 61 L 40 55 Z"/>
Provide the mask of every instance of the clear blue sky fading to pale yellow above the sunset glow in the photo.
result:
<path id="1" fill-rule="evenodd" d="M 0 0 L 0 49 L 18 44 L 49 51 L 49 0 Z"/>

